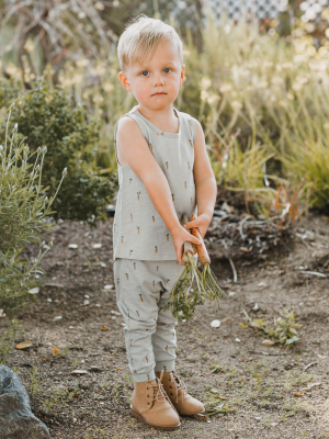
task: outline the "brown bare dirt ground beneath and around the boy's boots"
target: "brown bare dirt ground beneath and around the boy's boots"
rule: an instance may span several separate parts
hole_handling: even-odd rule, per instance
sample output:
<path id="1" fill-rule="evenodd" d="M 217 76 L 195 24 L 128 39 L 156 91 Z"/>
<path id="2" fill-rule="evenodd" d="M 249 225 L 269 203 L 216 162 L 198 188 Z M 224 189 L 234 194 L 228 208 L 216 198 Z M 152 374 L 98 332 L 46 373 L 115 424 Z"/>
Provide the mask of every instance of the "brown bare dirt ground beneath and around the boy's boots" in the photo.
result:
<path id="1" fill-rule="evenodd" d="M 212 268 L 227 297 L 220 309 L 207 304 L 179 325 L 177 373 L 215 414 L 208 421 L 184 418 L 173 432 L 149 429 L 129 414 L 133 382 L 115 304 L 112 224 L 109 218 L 90 229 L 60 222 L 45 236 L 54 240 L 42 263 L 47 273 L 36 303 L 19 316 L 22 331 L 5 361 L 52 438 L 329 437 L 328 216 L 305 217 L 294 238 L 260 257 L 248 259 L 241 250 L 246 257 L 232 260 L 237 282 L 218 252 L 220 241 L 212 241 Z M 214 218 L 212 228 L 218 227 Z M 300 340 L 262 345 L 266 336 L 247 327 L 243 309 L 273 326 L 284 308 L 294 309 L 303 325 Z M 215 318 L 219 328 L 211 327 Z M 8 327 L 8 318 L 0 318 L 0 330 Z M 24 340 L 33 347 L 14 348 Z M 76 370 L 87 373 L 72 374 Z"/>

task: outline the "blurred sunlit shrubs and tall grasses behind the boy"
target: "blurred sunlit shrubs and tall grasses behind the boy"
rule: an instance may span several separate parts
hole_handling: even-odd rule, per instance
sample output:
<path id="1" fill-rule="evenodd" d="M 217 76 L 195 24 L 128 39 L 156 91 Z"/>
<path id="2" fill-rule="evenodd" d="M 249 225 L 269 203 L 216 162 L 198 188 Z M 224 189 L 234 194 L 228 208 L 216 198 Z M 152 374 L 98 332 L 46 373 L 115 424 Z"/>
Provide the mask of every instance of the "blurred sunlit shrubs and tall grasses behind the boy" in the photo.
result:
<path id="1" fill-rule="evenodd" d="M 218 15 L 215 3 L 0 0 L 1 142 L 14 102 L 9 132 L 18 123 L 32 151 L 47 146 L 50 195 L 68 168 L 57 217 L 94 224 L 115 193 L 113 131 L 136 103 L 120 85 L 116 44 L 138 13 L 173 25 L 184 42 L 175 106 L 202 123 L 218 184 L 243 192 L 263 219 L 328 210 L 327 0 L 282 0 L 274 18 Z"/>

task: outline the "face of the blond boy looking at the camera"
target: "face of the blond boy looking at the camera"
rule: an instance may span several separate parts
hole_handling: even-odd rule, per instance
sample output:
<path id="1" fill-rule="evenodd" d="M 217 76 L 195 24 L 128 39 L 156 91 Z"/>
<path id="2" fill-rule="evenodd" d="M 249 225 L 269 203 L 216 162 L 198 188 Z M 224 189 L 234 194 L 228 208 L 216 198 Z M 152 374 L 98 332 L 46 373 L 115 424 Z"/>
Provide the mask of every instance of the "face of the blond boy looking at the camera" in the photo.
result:
<path id="1" fill-rule="evenodd" d="M 170 105 L 178 97 L 184 70 L 178 48 L 163 42 L 148 63 L 131 64 L 118 77 L 123 87 L 133 92 L 141 106 L 158 111 Z"/>

